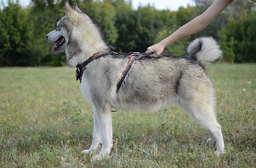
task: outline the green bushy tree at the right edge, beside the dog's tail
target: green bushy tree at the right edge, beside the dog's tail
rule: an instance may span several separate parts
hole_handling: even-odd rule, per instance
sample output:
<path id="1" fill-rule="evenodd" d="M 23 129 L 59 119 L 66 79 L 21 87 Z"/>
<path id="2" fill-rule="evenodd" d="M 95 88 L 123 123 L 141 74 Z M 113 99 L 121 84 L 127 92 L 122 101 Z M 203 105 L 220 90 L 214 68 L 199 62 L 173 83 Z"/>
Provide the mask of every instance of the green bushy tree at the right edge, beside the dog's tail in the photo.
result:
<path id="1" fill-rule="evenodd" d="M 241 15 L 239 20 L 228 20 L 226 28 L 218 33 L 226 62 L 255 62 L 256 11 Z"/>

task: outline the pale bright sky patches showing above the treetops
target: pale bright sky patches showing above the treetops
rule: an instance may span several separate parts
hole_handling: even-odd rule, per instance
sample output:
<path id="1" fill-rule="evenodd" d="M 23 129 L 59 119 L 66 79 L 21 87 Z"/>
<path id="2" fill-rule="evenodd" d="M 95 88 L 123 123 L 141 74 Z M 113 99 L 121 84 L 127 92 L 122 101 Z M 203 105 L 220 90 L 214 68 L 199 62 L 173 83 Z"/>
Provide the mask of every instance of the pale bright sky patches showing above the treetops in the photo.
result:
<path id="1" fill-rule="evenodd" d="M 146 6 L 148 3 L 152 6 L 155 6 L 158 10 L 169 9 L 172 11 L 178 10 L 180 6 L 187 7 L 187 4 L 193 5 L 192 0 L 131 0 L 133 3 L 133 8 L 137 9 L 139 5 Z M 7 0 L 3 0 L 7 2 Z M 19 0 L 22 6 L 27 6 L 30 3 L 30 0 Z"/>

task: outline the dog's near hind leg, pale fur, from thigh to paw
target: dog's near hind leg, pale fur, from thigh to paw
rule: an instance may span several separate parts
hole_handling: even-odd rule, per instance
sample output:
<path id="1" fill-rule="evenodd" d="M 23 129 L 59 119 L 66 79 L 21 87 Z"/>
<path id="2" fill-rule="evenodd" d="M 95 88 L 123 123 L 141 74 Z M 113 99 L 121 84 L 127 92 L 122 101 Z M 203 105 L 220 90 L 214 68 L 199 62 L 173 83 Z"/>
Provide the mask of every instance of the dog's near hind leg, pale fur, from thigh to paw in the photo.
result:
<path id="1" fill-rule="evenodd" d="M 216 140 L 217 150 L 214 152 L 217 156 L 224 154 L 224 140 L 221 132 L 221 126 L 216 120 L 214 114 L 213 104 L 210 101 L 203 99 L 197 101 L 185 101 L 181 103 L 181 106 L 187 111 L 187 113 L 196 120 L 201 126 L 207 128 Z M 208 103 L 207 103 L 208 102 Z"/>

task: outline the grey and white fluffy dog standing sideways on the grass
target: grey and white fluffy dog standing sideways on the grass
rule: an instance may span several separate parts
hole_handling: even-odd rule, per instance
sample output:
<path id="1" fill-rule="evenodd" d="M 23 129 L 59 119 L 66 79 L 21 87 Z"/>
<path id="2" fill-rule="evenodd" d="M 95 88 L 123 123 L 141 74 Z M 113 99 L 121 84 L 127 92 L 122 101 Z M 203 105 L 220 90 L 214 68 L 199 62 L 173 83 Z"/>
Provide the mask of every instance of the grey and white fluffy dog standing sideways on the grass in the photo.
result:
<path id="1" fill-rule="evenodd" d="M 143 57 L 134 61 L 117 92 L 117 83 L 129 58 L 108 52 L 112 47 L 106 44 L 101 29 L 76 4 L 72 9 L 65 2 L 65 16 L 46 37 L 55 43 L 53 54 L 65 50 L 70 67 L 88 61 L 92 55 L 105 53 L 89 62 L 81 75 L 81 91 L 93 106 L 94 117 L 92 145 L 83 153 L 96 150 L 100 144 L 100 153 L 94 157 L 101 158 L 110 153 L 113 145 L 112 107 L 151 111 L 171 103 L 179 104 L 209 130 L 217 144 L 216 155 L 225 153 L 221 126 L 214 113 L 214 89 L 205 68 L 221 55 L 213 38 L 197 38 L 191 42 L 187 57 L 162 54 L 159 58 Z"/>

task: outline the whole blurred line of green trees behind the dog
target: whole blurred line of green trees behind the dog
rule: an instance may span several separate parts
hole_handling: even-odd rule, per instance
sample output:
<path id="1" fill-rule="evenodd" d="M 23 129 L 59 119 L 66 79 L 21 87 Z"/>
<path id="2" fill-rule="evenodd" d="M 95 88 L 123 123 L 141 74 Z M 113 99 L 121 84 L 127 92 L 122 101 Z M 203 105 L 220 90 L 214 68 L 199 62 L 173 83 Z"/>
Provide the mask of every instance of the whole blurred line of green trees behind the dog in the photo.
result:
<path id="1" fill-rule="evenodd" d="M 0 67 L 63 66 L 64 53 L 53 55 L 46 40 L 56 21 L 65 14 L 65 0 L 31 0 L 22 7 L 18 0 L 0 5 Z M 193 0 L 195 6 L 177 11 L 139 6 L 129 0 L 80 0 L 79 8 L 102 28 L 106 41 L 115 51 L 144 52 L 176 29 L 203 13 L 213 0 Z M 168 2 L 167 2 L 168 3 Z M 174 42 L 164 53 L 185 55 L 187 46 L 196 37 L 216 38 L 223 51 L 223 62 L 256 62 L 256 5 L 251 1 L 234 1 L 203 31 Z"/>

